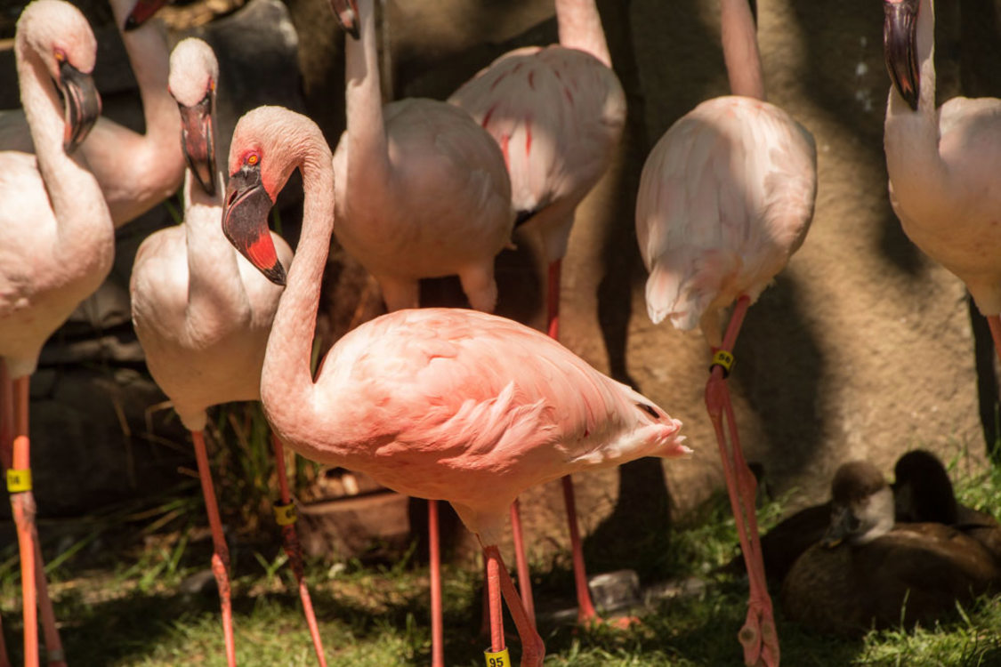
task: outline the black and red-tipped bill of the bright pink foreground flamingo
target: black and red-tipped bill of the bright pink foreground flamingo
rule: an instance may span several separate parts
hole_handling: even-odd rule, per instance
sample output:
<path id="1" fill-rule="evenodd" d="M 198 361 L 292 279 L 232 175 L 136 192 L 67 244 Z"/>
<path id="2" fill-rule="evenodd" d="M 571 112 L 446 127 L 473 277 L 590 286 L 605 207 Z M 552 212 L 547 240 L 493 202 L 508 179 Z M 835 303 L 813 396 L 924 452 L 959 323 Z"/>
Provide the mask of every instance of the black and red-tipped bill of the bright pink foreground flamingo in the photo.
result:
<path id="1" fill-rule="evenodd" d="M 285 284 L 285 269 L 278 261 L 267 228 L 267 214 L 274 201 L 260 180 L 260 169 L 244 165 L 229 177 L 222 233 L 236 250 L 276 285 Z"/>

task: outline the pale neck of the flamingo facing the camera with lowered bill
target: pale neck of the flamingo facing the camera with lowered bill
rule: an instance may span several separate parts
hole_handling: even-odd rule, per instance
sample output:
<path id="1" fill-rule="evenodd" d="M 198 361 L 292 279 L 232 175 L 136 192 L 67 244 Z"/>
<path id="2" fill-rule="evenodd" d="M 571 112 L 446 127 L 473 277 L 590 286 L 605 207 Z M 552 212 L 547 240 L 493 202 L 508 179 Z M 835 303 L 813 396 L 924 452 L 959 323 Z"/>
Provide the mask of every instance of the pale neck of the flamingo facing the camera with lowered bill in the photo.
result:
<path id="1" fill-rule="evenodd" d="M 221 175 L 216 192 L 222 192 Z M 188 170 L 184 181 L 187 239 L 187 321 L 205 331 L 228 328 L 249 315 L 250 306 L 236 263 L 236 250 L 222 233 L 219 195 L 205 194 Z M 216 326 L 218 325 L 218 326 Z"/>

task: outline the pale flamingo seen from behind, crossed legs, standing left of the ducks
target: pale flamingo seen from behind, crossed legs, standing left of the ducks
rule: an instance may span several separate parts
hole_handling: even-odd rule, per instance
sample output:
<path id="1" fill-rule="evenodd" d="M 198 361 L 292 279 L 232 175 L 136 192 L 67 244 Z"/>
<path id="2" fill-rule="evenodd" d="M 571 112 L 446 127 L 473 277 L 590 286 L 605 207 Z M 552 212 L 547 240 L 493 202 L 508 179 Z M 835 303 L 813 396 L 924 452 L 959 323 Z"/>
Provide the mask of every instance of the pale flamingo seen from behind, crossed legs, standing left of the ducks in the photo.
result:
<path id="1" fill-rule="evenodd" d="M 741 451 L 726 376 L 748 306 L 800 247 L 813 218 L 811 134 L 764 101 L 748 0 L 721 0 L 723 53 L 734 96 L 708 100 L 671 126 L 647 159 L 636 228 L 650 271 L 650 318 L 701 327 L 714 351 L 706 407 L 716 430 L 750 582 L 740 633 L 748 665 L 779 664 L 779 642 L 755 516 L 754 475 Z M 721 338 L 721 311 L 737 305 Z M 727 445 L 724 415 L 732 450 Z"/>

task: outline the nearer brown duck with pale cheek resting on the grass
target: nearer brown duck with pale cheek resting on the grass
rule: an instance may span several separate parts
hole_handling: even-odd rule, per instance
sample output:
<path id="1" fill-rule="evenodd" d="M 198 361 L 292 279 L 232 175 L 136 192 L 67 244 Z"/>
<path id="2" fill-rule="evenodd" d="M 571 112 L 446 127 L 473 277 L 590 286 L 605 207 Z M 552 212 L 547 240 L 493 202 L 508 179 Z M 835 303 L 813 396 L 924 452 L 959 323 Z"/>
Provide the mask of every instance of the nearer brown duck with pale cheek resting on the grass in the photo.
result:
<path id="1" fill-rule="evenodd" d="M 1001 568 L 975 539 L 941 523 L 895 523 L 894 494 L 868 461 L 838 469 L 831 524 L 782 586 L 793 620 L 820 632 L 929 623 L 1001 582 Z"/>

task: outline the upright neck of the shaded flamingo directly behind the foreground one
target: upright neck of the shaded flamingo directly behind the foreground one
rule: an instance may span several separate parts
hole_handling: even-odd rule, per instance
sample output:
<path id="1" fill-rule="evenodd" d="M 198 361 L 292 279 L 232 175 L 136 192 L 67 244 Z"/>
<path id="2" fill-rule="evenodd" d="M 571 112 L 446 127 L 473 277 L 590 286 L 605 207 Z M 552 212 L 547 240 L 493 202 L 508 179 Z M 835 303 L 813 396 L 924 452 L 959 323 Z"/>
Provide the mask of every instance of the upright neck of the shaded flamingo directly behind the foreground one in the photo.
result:
<path id="1" fill-rule="evenodd" d="M 358 0 L 359 39 L 346 37 L 347 180 L 385 183 L 389 173 L 372 0 Z"/>

